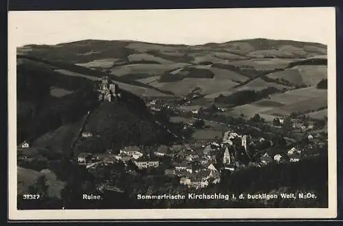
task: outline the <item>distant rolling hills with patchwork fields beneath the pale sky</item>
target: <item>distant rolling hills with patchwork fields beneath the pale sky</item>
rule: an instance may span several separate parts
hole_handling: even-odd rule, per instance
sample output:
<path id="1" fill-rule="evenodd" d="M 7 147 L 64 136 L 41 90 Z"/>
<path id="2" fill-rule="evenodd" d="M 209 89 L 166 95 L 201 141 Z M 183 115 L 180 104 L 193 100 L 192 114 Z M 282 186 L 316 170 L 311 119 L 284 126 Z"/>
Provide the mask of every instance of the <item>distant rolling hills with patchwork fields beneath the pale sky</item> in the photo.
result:
<path id="1" fill-rule="evenodd" d="M 30 68 L 35 64 L 51 73 L 50 92 L 56 98 L 72 95 L 79 84 L 110 75 L 120 88 L 140 97 L 186 97 L 200 88 L 204 97 L 197 102 L 203 103 L 220 95 L 276 88 L 270 97 L 230 106 L 226 114 L 233 115 L 259 112 L 273 118 L 293 111 L 314 112 L 327 104 L 326 90 L 318 91 L 319 96 L 314 91 L 327 78 L 327 46 L 320 43 L 255 38 L 187 46 L 82 40 L 27 45 L 18 53 Z"/>

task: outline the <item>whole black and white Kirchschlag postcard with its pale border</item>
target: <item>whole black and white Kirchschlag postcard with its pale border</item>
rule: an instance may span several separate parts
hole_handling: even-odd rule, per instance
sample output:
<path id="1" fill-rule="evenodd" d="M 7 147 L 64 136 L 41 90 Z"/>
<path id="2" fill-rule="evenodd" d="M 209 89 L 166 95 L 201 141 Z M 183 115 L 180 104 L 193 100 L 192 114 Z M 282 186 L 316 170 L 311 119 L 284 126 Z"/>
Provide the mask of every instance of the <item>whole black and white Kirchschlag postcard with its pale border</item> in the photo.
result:
<path id="1" fill-rule="evenodd" d="M 336 216 L 334 8 L 8 23 L 10 219 Z"/>

